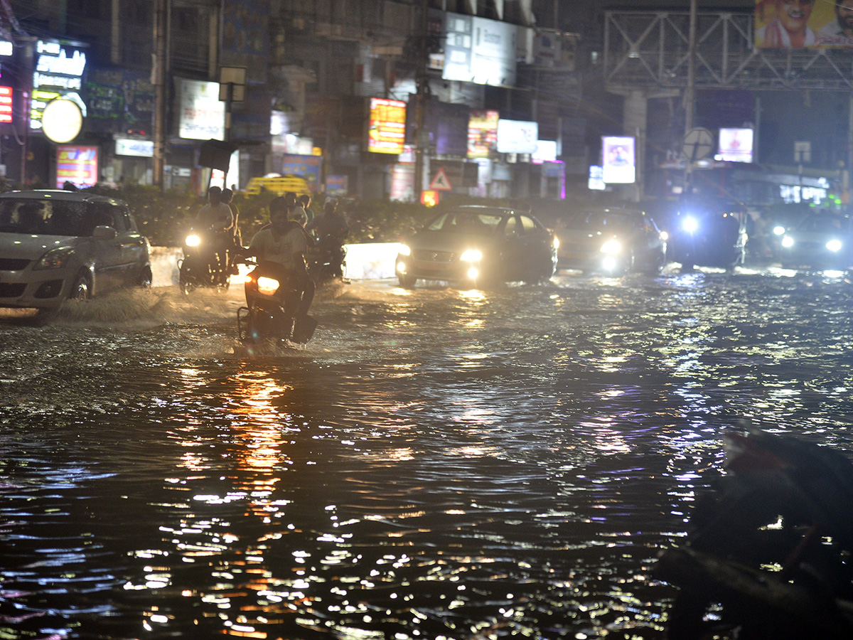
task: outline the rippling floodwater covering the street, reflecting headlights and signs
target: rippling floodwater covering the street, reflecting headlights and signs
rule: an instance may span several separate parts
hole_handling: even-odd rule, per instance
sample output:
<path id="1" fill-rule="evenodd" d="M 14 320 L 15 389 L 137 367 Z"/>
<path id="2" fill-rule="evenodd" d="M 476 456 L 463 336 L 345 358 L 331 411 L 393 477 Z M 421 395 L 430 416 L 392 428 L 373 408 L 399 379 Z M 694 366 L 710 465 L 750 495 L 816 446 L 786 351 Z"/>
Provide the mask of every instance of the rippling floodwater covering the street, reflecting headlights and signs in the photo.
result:
<path id="1" fill-rule="evenodd" d="M 853 438 L 842 273 L 240 293 L 0 317 L 0 637 L 663 638 L 723 431 Z"/>

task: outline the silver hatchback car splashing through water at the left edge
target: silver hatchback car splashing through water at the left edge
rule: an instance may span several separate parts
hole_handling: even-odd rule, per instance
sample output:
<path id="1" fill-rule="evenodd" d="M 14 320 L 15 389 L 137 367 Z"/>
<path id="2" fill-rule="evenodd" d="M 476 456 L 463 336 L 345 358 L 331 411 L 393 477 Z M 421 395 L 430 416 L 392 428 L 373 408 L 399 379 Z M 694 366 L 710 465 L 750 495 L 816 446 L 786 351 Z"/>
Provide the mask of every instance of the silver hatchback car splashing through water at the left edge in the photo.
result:
<path id="1" fill-rule="evenodd" d="M 151 284 L 150 246 L 123 201 L 85 191 L 0 194 L 0 307 Z"/>

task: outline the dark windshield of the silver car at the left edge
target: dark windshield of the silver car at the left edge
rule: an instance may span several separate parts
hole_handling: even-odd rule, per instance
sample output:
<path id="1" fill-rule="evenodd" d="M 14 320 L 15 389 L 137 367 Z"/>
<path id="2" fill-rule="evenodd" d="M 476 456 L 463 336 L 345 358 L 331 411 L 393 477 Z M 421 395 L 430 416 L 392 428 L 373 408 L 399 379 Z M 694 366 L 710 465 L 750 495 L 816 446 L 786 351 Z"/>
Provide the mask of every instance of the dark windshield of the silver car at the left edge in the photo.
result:
<path id="1" fill-rule="evenodd" d="M 0 233 L 32 236 L 88 236 L 85 203 L 0 199 Z"/>

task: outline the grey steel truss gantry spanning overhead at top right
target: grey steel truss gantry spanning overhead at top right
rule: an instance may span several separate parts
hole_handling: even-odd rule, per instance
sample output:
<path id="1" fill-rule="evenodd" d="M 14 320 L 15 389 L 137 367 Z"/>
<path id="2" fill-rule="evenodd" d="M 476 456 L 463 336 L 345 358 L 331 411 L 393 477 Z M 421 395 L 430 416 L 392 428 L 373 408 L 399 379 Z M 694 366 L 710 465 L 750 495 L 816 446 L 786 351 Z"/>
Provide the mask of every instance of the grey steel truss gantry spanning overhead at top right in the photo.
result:
<path id="1" fill-rule="evenodd" d="M 853 49 L 757 49 L 751 13 L 699 12 L 697 17 L 697 88 L 853 88 Z M 688 11 L 607 11 L 606 88 L 686 88 L 689 25 Z"/>

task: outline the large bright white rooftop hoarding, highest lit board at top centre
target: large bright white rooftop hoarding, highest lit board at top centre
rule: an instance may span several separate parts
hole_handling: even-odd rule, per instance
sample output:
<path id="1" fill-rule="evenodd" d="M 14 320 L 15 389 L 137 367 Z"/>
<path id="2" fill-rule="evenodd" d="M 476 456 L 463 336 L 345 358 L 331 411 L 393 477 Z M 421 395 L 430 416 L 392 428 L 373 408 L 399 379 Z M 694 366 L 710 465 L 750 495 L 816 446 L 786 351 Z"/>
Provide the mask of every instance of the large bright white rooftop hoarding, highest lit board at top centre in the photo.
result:
<path id="1" fill-rule="evenodd" d="M 447 13 L 442 79 L 513 86 L 518 30 L 500 20 Z"/>

